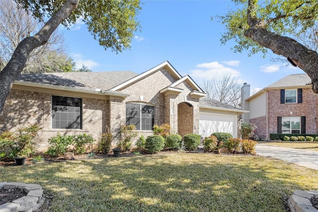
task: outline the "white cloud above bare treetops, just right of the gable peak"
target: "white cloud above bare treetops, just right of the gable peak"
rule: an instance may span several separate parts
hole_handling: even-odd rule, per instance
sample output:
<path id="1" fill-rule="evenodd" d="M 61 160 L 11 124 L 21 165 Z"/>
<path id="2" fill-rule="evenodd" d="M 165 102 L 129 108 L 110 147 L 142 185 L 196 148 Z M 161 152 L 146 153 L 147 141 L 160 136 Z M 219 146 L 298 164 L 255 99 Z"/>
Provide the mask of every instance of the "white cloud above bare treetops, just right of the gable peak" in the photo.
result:
<path id="1" fill-rule="evenodd" d="M 233 77 L 239 76 L 239 71 L 228 68 L 219 64 L 219 62 L 203 63 L 196 65 L 194 70 L 190 70 L 191 77 L 202 78 L 202 79 L 211 79 L 216 75 L 222 75 L 224 73 L 229 73 Z"/>

